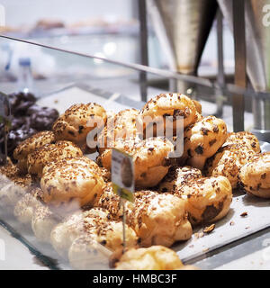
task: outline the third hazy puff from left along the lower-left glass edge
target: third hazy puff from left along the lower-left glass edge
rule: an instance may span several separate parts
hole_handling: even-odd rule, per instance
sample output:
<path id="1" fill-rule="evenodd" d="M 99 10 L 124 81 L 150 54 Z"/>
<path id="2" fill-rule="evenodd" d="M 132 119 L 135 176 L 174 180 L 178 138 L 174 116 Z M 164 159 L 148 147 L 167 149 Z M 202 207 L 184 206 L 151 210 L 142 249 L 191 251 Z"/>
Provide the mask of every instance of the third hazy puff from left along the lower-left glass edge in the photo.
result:
<path id="1" fill-rule="evenodd" d="M 40 242 L 50 243 L 50 232 L 61 218 L 46 205 L 36 206 L 31 218 L 31 229 Z"/>

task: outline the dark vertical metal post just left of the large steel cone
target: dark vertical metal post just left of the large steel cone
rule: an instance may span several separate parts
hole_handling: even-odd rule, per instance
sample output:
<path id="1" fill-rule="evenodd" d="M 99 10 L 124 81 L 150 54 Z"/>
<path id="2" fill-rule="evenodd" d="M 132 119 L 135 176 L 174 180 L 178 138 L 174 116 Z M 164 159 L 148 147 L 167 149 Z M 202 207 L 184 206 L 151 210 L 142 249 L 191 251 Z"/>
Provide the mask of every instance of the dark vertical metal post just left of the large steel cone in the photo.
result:
<path id="1" fill-rule="evenodd" d="M 140 38 L 140 64 L 148 66 L 148 25 L 146 0 L 139 0 L 139 38 Z M 140 98 L 142 102 L 148 101 L 147 74 L 139 72 Z"/>

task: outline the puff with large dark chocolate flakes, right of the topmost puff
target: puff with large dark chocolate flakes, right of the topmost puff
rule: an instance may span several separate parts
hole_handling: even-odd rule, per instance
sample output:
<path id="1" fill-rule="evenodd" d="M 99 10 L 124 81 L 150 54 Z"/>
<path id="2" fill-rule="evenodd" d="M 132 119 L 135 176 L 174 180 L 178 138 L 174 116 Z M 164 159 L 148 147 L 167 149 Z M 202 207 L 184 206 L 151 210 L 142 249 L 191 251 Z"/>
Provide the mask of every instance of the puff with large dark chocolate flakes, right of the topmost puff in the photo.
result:
<path id="1" fill-rule="evenodd" d="M 224 121 L 214 116 L 202 118 L 184 130 L 184 154 L 187 164 L 203 168 L 208 157 L 214 155 L 227 139 Z"/>

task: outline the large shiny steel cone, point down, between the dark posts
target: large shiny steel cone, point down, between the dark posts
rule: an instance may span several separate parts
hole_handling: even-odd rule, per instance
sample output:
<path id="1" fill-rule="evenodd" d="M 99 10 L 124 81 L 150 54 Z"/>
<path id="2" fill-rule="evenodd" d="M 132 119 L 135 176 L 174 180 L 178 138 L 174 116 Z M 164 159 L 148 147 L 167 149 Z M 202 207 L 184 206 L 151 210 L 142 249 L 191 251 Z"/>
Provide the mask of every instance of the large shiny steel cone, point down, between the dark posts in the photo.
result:
<path id="1" fill-rule="evenodd" d="M 148 13 L 171 70 L 197 74 L 217 7 L 216 0 L 148 0 Z M 178 83 L 175 88 L 184 93 L 189 87 Z"/>

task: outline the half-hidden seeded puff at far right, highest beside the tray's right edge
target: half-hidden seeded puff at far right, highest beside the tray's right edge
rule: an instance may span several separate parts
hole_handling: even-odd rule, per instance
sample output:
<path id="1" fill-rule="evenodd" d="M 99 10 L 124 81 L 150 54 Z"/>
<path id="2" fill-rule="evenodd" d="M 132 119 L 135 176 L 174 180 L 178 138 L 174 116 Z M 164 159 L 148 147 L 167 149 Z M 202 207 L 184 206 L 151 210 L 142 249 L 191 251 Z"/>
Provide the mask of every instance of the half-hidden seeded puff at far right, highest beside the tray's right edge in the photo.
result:
<path id="1" fill-rule="evenodd" d="M 242 131 L 237 133 L 236 132 L 229 133 L 228 138 L 224 143 L 224 146 L 230 144 L 241 145 L 257 153 L 261 152 L 260 143 L 257 137 L 250 132 Z"/>

